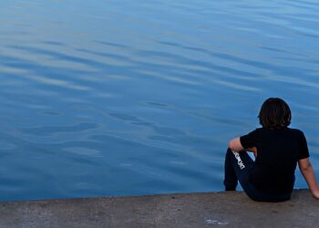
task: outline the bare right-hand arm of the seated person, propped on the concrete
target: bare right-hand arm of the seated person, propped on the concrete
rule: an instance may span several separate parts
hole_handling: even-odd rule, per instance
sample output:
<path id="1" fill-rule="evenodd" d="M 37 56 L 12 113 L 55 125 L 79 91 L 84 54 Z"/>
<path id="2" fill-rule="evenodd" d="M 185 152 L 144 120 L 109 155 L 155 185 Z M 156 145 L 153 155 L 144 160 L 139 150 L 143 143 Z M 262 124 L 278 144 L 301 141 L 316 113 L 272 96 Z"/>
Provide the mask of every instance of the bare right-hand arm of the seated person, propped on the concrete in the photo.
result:
<path id="1" fill-rule="evenodd" d="M 319 187 L 315 180 L 314 169 L 311 165 L 309 158 L 298 161 L 299 169 L 304 176 L 304 180 L 307 182 L 310 192 L 314 195 L 314 198 L 319 199 Z"/>

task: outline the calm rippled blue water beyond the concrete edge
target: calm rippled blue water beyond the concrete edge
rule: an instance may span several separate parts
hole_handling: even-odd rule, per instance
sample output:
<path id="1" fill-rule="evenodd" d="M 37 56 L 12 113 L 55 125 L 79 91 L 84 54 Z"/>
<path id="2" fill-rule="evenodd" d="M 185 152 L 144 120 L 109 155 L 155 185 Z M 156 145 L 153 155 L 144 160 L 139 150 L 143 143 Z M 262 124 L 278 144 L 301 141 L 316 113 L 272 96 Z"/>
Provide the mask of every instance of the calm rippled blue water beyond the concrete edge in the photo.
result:
<path id="1" fill-rule="evenodd" d="M 222 191 L 228 140 L 268 97 L 291 106 L 319 176 L 318 12 L 1 0 L 0 201 Z"/>

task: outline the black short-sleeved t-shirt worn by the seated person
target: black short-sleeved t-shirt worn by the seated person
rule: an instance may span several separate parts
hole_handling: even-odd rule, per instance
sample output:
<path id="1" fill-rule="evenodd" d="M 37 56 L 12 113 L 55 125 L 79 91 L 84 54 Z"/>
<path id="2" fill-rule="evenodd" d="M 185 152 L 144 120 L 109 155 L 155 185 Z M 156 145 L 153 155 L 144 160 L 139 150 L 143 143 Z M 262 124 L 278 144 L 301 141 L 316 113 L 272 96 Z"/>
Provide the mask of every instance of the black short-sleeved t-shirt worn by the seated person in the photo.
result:
<path id="1" fill-rule="evenodd" d="M 303 131 L 261 128 L 240 139 L 243 148 L 257 148 L 257 158 L 249 176 L 252 184 L 262 192 L 292 192 L 297 161 L 309 157 Z"/>

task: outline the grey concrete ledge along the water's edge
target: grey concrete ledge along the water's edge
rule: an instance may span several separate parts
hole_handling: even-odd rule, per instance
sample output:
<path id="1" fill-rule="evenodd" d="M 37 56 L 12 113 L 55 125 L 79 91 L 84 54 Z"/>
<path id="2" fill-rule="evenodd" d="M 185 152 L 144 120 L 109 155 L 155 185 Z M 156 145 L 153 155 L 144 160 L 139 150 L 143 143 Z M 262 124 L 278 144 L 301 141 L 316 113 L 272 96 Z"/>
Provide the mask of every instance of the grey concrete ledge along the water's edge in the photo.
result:
<path id="1" fill-rule="evenodd" d="M 302 190 L 276 203 L 243 192 L 0 202 L 0 227 L 319 227 L 319 201 Z"/>

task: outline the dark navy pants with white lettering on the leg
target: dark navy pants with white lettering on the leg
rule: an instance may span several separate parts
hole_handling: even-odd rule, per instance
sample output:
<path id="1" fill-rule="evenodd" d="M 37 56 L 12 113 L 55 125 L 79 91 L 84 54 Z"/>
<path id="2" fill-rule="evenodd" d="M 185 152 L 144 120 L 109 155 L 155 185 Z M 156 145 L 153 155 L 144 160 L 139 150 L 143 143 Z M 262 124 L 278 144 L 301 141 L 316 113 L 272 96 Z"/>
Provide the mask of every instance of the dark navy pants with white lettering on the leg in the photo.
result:
<path id="1" fill-rule="evenodd" d="M 270 194 L 257 190 L 249 180 L 253 161 L 246 151 L 234 152 L 228 149 L 225 158 L 225 179 L 223 181 L 226 191 L 235 191 L 238 181 L 242 189 L 254 201 L 282 202 L 290 199 L 290 193 Z"/>

